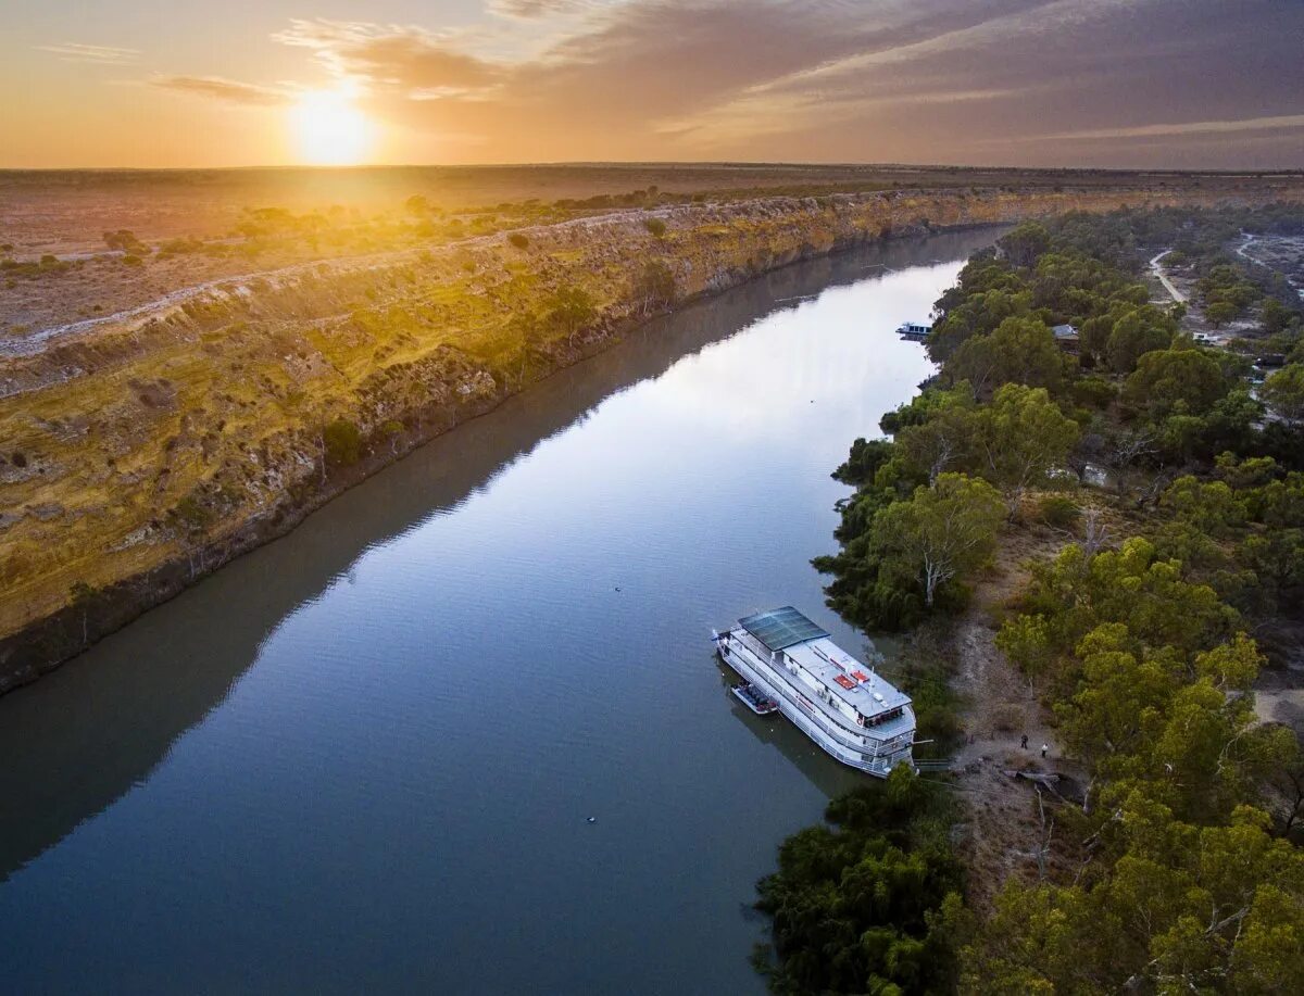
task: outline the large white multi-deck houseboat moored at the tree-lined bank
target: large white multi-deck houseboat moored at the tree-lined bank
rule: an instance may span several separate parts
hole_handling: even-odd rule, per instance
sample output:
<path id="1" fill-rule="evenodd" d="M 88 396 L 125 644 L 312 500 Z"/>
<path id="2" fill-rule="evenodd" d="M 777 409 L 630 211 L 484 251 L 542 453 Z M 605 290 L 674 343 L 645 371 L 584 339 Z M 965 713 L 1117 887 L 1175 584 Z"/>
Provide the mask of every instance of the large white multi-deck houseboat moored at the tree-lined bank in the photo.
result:
<path id="1" fill-rule="evenodd" d="M 720 658 L 842 764 L 885 778 L 911 765 L 910 697 L 790 605 L 715 632 Z"/>

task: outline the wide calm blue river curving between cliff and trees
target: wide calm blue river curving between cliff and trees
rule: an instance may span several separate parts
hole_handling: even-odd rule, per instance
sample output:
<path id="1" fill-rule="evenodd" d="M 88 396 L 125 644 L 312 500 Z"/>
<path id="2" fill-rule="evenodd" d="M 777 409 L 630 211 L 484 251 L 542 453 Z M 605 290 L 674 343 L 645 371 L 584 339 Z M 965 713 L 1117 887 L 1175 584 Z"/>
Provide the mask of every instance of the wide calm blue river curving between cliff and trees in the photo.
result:
<path id="1" fill-rule="evenodd" d="M 729 695 L 991 231 L 788 267 L 422 447 L 0 699 L 5 992 L 763 992 L 863 777 Z M 589 821 L 593 817 L 593 821 Z"/>

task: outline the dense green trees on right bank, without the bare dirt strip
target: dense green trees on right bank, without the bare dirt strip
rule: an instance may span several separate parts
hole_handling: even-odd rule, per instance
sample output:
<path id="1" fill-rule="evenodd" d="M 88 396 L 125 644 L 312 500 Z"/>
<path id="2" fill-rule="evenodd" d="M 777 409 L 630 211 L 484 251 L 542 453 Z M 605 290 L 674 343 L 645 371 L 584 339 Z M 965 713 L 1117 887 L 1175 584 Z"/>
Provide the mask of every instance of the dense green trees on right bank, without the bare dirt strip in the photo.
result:
<path id="1" fill-rule="evenodd" d="M 1047 493 L 1093 481 L 1133 524 L 1112 548 L 1089 533 L 1038 563 L 998 636 L 1089 773 L 1059 816 L 1081 864 L 1008 883 L 982 923 L 953 885 L 927 892 L 906 932 L 940 974 L 895 975 L 893 939 L 850 898 L 848 828 L 803 832 L 762 885 L 776 989 L 1266 993 L 1304 978 L 1304 764 L 1295 733 L 1256 721 L 1249 635 L 1304 617 L 1304 315 L 1227 253 L 1301 223 L 1284 206 L 1025 224 L 939 300 L 939 375 L 883 418 L 888 438 L 852 446 L 835 472 L 855 488 L 841 549 L 815 563 L 848 619 L 905 628 L 964 605 L 1034 493 L 1063 527 L 1076 502 Z M 1261 387 L 1243 356 L 1181 332 L 1180 305 L 1151 304 L 1137 276 L 1174 245 L 1206 309 L 1257 318 L 1258 342 L 1290 357 Z M 1076 355 L 1061 323 L 1080 330 Z M 855 833 L 900 832 L 875 812 Z M 939 840 L 898 838 L 901 860 L 945 879 Z"/>

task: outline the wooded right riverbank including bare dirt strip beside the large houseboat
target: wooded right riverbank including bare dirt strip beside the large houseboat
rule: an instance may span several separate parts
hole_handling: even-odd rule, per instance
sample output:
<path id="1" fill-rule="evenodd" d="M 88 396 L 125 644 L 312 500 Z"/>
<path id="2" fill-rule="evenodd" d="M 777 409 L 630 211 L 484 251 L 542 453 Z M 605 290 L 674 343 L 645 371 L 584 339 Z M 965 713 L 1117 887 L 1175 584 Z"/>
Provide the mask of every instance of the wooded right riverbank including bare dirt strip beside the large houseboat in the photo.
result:
<path id="1" fill-rule="evenodd" d="M 760 886 L 776 978 L 909 980 L 896 946 L 931 949 L 936 986 L 960 992 L 1279 991 L 1299 975 L 1304 742 L 1253 703 L 1261 670 L 1296 656 L 1265 636 L 1304 605 L 1299 422 L 1265 418 L 1248 364 L 1198 344 L 1185 309 L 1137 279 L 1154 248 L 1134 246 L 1181 229 L 1215 261 L 1206 300 L 1239 286 L 1230 219 L 1304 226 L 1284 206 L 1018 226 L 939 301 L 934 383 L 836 471 L 857 491 L 838 505 L 841 551 L 815 563 L 849 622 L 911 632 L 905 687 L 922 742 L 948 744 L 956 815 L 944 841 L 901 836 L 891 800 L 917 791 L 928 821 L 947 791 L 901 770 L 835 800 L 832 830 L 790 838 Z M 1277 321 L 1299 356 L 1304 315 L 1279 296 L 1247 283 L 1226 308 Z M 1084 330 L 1071 357 L 1061 323 Z M 911 674 L 928 644 L 943 666 Z M 922 915 L 880 922 L 863 901 L 892 897 L 893 877 L 842 846 L 857 820 L 939 880 Z"/>

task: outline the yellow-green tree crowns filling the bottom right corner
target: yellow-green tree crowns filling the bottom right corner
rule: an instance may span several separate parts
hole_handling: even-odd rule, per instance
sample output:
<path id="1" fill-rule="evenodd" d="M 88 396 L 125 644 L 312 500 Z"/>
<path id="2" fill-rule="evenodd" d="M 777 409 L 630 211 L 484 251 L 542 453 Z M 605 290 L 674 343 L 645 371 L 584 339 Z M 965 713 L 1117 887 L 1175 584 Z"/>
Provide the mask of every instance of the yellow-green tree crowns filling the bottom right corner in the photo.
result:
<path id="1" fill-rule="evenodd" d="M 1239 807 L 1174 819 L 1141 793 L 1118 810 L 1111 873 L 1008 885 L 962 954 L 961 988 L 992 993 L 1290 992 L 1304 978 L 1304 854 Z"/>

